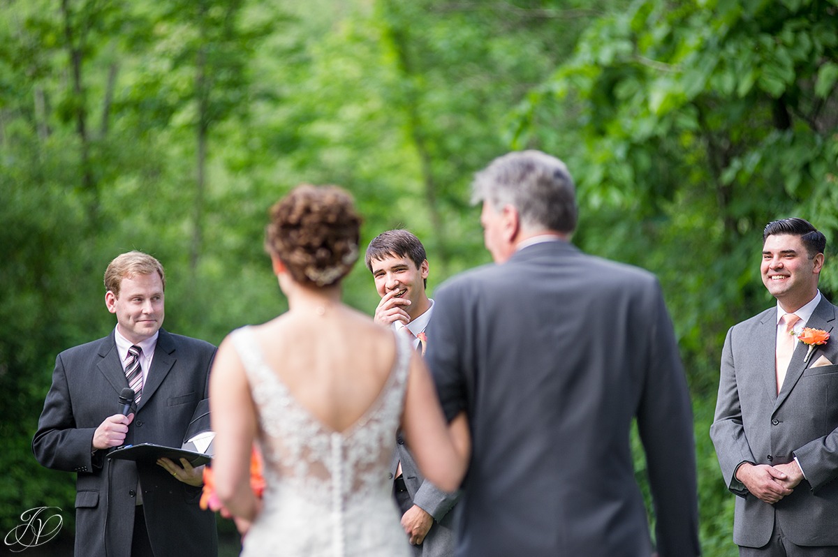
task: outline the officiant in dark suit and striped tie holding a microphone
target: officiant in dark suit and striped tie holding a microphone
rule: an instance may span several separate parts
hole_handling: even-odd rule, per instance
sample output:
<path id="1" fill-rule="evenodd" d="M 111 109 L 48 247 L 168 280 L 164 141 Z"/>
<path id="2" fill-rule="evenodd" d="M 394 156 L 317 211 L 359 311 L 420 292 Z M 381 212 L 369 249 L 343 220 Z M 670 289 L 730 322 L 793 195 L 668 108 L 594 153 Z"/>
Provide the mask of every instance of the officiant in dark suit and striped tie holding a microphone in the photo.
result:
<path id="1" fill-rule="evenodd" d="M 32 448 L 45 467 L 77 475 L 77 557 L 218 553 L 215 515 L 199 508 L 203 467 L 184 459 L 183 467 L 168 458 L 107 459 L 123 444 L 181 446 L 207 396 L 215 347 L 160 328 L 165 281 L 151 255 L 116 257 L 105 272 L 105 305 L 116 327 L 55 359 Z M 123 415 L 120 393 L 128 386 L 137 404 Z"/>

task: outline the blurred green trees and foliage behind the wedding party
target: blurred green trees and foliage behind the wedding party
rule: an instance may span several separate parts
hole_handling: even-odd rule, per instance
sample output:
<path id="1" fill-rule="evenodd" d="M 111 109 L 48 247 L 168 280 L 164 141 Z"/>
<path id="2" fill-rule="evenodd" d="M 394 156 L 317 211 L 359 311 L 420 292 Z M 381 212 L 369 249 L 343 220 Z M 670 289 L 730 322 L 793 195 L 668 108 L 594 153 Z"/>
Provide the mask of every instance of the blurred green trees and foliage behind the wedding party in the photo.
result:
<path id="1" fill-rule="evenodd" d="M 772 303 L 763 225 L 799 215 L 838 241 L 836 0 L 0 6 L 0 533 L 50 505 L 71 536 L 73 477 L 29 443 L 55 355 L 113 327 L 112 257 L 158 256 L 166 328 L 219 343 L 285 308 L 267 208 L 337 183 L 363 241 L 422 238 L 432 290 L 489 261 L 473 173 L 539 148 L 577 180 L 574 242 L 660 276 L 695 407 L 701 543 L 736 554 L 707 438 L 717 364 L 727 327 Z M 344 290 L 375 308 L 363 265 Z M 637 470 L 644 486 L 639 446 Z"/>

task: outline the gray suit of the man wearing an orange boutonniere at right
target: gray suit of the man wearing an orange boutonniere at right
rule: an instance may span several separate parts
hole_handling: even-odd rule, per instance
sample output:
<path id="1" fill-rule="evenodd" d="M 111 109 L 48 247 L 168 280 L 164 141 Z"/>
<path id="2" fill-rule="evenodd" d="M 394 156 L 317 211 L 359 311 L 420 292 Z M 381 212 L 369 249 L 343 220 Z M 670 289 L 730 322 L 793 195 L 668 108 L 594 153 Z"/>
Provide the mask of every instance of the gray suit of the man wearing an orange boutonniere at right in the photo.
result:
<path id="1" fill-rule="evenodd" d="M 838 308 L 822 298 L 806 327 L 827 332 Z M 739 495 L 733 541 L 747 547 L 768 543 L 777 522 L 797 545 L 838 545 L 838 365 L 812 368 L 820 356 L 838 363 L 838 338 L 832 331 L 815 348 L 798 343 L 777 394 L 774 353 L 777 307 L 741 322 L 727 332 L 716 417 L 710 428 L 727 487 Z M 742 462 L 784 464 L 797 456 L 806 479 L 794 493 L 770 505 L 747 492 L 734 477 Z"/>

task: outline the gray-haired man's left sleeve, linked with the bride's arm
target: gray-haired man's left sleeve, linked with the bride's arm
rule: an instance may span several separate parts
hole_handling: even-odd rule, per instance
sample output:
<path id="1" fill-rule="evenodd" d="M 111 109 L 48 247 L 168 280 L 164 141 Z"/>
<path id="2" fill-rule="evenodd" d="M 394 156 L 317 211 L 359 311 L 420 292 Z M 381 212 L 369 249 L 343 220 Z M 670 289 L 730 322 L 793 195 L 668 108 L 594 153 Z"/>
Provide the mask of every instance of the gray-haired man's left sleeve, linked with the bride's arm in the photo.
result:
<path id="1" fill-rule="evenodd" d="M 458 302 L 456 292 L 443 286 L 434 297 L 433 319 L 427 327 L 425 359 L 437 385 L 442 411 L 449 421 L 468 406 L 465 383 L 467 356 L 458 351 L 458 347 L 467 346 L 462 338 L 466 333 L 463 311 Z"/>

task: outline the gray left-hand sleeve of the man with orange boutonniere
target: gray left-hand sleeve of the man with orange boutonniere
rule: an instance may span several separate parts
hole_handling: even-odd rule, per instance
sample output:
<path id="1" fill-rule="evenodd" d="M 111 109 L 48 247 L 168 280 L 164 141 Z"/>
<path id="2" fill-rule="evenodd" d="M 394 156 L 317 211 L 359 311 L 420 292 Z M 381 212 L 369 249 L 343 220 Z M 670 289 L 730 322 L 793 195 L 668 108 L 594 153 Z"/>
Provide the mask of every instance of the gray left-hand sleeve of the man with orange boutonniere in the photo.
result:
<path id="1" fill-rule="evenodd" d="M 733 334 L 734 328 L 727 331 L 722 348 L 719 393 L 716 398 L 716 415 L 710 426 L 710 437 L 713 446 L 716 447 L 716 457 L 727 488 L 732 493 L 745 497 L 748 493 L 747 488 L 736 479 L 736 471 L 742 462 L 756 462 L 756 459 L 747 444 L 745 428 L 742 425 L 742 405 L 733 358 Z"/>

